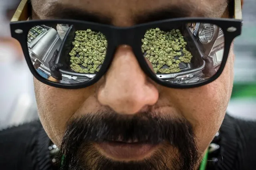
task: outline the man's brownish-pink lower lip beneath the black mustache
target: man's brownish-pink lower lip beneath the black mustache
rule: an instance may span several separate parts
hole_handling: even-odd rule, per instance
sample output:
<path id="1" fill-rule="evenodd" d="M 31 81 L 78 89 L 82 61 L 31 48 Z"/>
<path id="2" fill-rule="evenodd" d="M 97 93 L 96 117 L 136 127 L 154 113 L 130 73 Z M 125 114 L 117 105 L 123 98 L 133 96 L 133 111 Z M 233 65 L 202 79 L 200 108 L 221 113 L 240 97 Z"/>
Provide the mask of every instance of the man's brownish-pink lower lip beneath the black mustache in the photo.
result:
<path id="1" fill-rule="evenodd" d="M 97 143 L 97 146 L 107 157 L 115 160 L 138 160 L 149 156 L 157 145 L 143 142 L 126 143 L 106 141 Z"/>

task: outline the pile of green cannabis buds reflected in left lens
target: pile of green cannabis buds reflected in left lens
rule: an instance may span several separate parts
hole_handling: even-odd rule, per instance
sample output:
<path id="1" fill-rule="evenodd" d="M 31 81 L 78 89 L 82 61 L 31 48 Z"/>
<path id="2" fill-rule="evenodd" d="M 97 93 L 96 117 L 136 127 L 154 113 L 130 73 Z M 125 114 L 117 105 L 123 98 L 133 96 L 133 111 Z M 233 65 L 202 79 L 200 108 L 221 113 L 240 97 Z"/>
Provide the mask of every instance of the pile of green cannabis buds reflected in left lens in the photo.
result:
<path id="1" fill-rule="evenodd" d="M 78 73 L 95 73 L 106 55 L 107 40 L 101 32 L 90 29 L 75 32 L 74 48 L 69 53 L 71 69 Z"/>

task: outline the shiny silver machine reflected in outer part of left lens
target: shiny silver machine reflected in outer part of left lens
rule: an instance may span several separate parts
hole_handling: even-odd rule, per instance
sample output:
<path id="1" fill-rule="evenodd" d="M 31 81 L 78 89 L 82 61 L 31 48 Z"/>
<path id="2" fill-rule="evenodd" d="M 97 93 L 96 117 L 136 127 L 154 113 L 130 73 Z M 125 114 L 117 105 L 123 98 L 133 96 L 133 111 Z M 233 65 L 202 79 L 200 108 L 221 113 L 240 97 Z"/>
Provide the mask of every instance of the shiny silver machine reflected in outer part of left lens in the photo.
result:
<path id="1" fill-rule="evenodd" d="M 45 69 L 48 69 L 51 56 L 56 49 L 59 49 L 62 42 L 57 31 L 47 26 L 37 26 L 30 30 L 29 36 L 34 37 L 33 43 L 28 42 L 28 51 L 32 62 L 40 61 Z"/>

